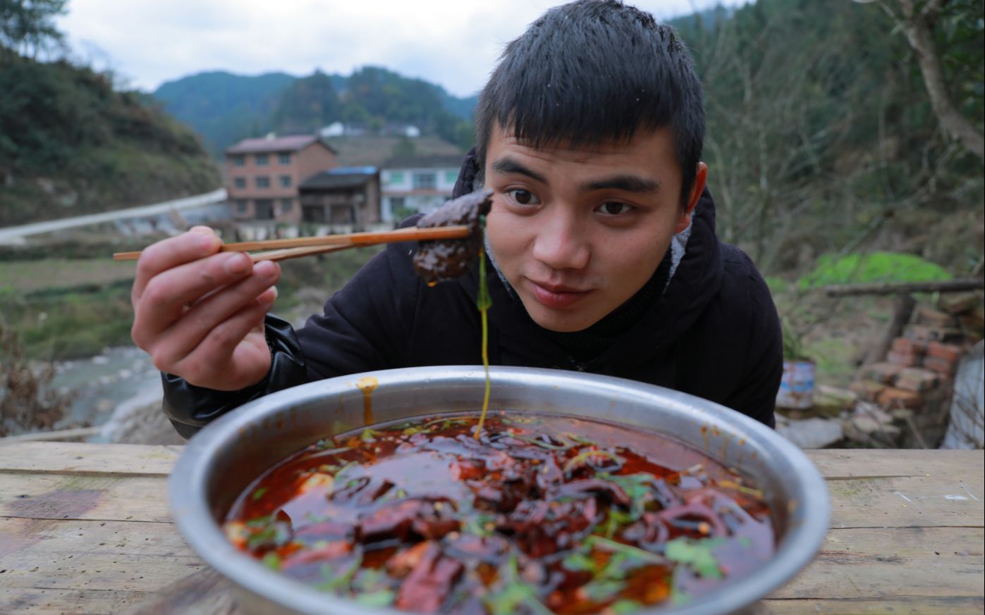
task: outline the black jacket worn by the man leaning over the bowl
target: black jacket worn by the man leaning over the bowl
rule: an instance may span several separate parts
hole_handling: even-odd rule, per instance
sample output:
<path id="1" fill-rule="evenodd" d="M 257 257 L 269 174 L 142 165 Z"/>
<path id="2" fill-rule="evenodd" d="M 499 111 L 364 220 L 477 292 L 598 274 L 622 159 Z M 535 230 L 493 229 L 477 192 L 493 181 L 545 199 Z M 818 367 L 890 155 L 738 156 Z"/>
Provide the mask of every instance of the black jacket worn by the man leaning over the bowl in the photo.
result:
<path id="1" fill-rule="evenodd" d="M 454 196 L 471 191 L 466 157 Z M 406 223 L 412 223 L 409 220 Z M 619 376 L 716 401 L 773 426 L 782 338 L 769 290 L 752 261 L 718 241 L 711 196 L 702 194 L 687 250 L 666 289 L 605 350 L 579 361 L 527 315 L 492 266 L 490 362 Z M 190 437 L 215 417 L 263 395 L 322 378 L 378 369 L 480 362 L 478 266 L 428 287 L 415 275 L 415 244 L 390 244 L 296 333 L 267 317 L 267 377 L 238 392 L 193 387 L 164 374 L 164 412 Z M 488 263 L 488 261 L 487 261 Z"/>

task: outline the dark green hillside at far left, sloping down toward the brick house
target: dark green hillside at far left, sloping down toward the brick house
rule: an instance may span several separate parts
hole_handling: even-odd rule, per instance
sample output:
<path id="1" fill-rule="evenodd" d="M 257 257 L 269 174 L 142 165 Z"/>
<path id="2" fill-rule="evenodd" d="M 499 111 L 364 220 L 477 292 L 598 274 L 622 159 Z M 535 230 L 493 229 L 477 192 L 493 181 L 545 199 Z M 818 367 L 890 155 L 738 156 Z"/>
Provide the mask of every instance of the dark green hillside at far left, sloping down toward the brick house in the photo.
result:
<path id="1" fill-rule="evenodd" d="M 67 61 L 65 0 L 0 1 L 0 226 L 200 194 L 221 186 L 187 127 L 146 94 Z"/>

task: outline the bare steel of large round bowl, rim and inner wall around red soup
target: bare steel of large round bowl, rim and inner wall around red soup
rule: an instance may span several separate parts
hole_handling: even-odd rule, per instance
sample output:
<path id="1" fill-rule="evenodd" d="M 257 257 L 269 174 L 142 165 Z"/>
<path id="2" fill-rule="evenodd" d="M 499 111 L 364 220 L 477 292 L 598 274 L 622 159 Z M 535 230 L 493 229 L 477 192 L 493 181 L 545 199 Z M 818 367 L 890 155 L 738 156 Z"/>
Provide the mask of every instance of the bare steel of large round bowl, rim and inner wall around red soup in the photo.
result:
<path id="1" fill-rule="evenodd" d="M 789 581 L 817 553 L 830 505 L 821 474 L 799 449 L 755 420 L 722 405 L 620 378 L 573 372 L 494 367 L 491 407 L 561 413 L 621 423 L 670 436 L 738 468 L 765 492 L 780 540 L 775 557 L 753 575 L 687 605 L 640 614 L 740 613 Z M 328 435 L 363 422 L 363 378 L 377 421 L 481 404 L 481 367 L 442 366 L 356 374 L 310 383 L 248 403 L 192 438 L 169 481 L 178 529 L 210 566 L 236 587 L 250 614 L 366 615 L 375 609 L 319 592 L 272 572 L 238 552 L 220 523 L 233 500 L 277 461 Z M 362 381 L 365 382 L 364 380 Z"/>

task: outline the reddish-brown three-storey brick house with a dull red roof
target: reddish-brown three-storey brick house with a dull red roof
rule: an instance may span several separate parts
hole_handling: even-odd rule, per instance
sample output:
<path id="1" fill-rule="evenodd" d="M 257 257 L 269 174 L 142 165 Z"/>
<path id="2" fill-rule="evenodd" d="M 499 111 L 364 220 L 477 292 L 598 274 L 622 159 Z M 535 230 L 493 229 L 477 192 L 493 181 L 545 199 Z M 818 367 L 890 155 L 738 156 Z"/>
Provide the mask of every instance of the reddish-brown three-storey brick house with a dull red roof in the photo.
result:
<path id="1" fill-rule="evenodd" d="M 244 139 L 226 150 L 232 217 L 296 224 L 297 186 L 336 166 L 335 150 L 314 135 Z"/>

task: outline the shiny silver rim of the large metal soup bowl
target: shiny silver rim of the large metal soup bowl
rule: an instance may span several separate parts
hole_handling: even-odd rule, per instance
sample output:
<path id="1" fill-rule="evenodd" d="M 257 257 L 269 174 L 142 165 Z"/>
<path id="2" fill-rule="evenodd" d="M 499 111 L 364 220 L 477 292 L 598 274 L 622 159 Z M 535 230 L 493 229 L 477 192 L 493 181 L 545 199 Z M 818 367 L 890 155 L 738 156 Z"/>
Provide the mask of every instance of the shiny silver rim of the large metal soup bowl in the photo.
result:
<path id="1" fill-rule="evenodd" d="M 285 407 L 352 393 L 356 381 L 366 377 L 376 378 L 380 386 L 385 383 L 387 387 L 421 385 L 424 382 L 429 383 L 428 386 L 439 386 L 444 381 L 472 382 L 477 378 L 485 379 L 485 372 L 482 366 L 441 365 L 361 372 L 315 381 L 245 403 L 195 434 L 168 476 L 171 518 L 192 550 L 231 584 L 238 585 L 237 589 L 308 615 L 325 612 L 338 615 L 406 615 L 407 611 L 368 607 L 318 591 L 267 569 L 229 542 L 221 525 L 214 519 L 207 501 L 210 461 L 223 446 L 241 437 L 244 429 L 249 429 L 259 419 Z M 780 466 L 770 467 L 772 471 L 777 474 L 782 471 L 795 478 L 794 484 L 800 496 L 796 505 L 799 506 L 801 521 L 796 527 L 788 528 L 772 559 L 750 576 L 734 584 L 726 584 L 687 604 L 665 603 L 640 609 L 636 614 L 717 615 L 735 612 L 768 597 L 772 591 L 786 584 L 814 559 L 821 548 L 830 521 L 830 499 L 821 472 L 798 447 L 755 419 L 724 405 L 680 391 L 613 376 L 545 368 L 491 366 L 490 377 L 493 379 L 493 392 L 498 381 L 498 387 L 532 384 L 542 388 L 548 385 L 564 388 L 566 385 L 567 388 L 590 389 L 595 395 L 608 392 L 618 394 L 626 400 L 658 401 L 665 406 L 665 411 L 694 415 L 708 424 L 718 425 L 723 433 L 733 432 L 735 437 L 742 437 L 759 445 L 769 453 L 769 461 L 779 462 Z M 651 431 L 661 433 L 655 428 Z M 675 437 L 673 434 L 667 435 Z M 688 444 L 680 438 L 676 439 Z M 313 434 L 312 442 L 315 440 L 317 435 Z M 693 444 L 689 446 L 697 449 Z M 715 458 L 710 451 L 702 454 Z"/>

